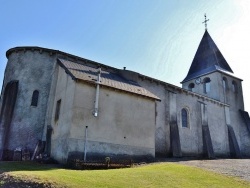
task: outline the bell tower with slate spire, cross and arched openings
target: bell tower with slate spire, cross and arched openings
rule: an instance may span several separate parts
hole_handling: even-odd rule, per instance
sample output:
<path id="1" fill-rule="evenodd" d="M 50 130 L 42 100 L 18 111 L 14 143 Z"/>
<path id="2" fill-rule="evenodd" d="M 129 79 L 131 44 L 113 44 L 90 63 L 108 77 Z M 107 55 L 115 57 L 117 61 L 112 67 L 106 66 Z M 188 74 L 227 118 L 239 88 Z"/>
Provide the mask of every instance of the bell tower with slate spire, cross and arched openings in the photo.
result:
<path id="1" fill-rule="evenodd" d="M 236 109 L 244 110 L 242 80 L 233 70 L 207 31 L 198 46 L 188 74 L 181 82 L 182 88 L 205 95 Z"/>

